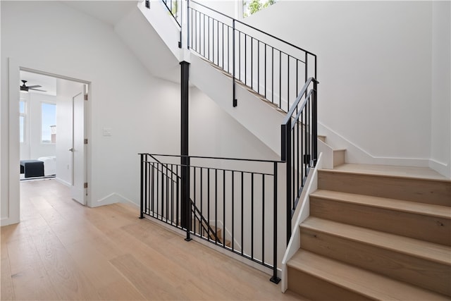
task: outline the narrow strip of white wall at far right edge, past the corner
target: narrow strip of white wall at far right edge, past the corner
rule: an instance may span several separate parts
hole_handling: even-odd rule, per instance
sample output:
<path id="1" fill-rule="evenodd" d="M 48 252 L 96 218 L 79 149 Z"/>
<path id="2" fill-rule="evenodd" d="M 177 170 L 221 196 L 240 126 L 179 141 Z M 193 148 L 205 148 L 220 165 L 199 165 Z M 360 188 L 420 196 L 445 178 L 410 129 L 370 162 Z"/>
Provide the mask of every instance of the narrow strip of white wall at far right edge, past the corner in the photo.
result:
<path id="1" fill-rule="evenodd" d="M 451 2 L 432 6 L 431 167 L 451 178 Z"/>

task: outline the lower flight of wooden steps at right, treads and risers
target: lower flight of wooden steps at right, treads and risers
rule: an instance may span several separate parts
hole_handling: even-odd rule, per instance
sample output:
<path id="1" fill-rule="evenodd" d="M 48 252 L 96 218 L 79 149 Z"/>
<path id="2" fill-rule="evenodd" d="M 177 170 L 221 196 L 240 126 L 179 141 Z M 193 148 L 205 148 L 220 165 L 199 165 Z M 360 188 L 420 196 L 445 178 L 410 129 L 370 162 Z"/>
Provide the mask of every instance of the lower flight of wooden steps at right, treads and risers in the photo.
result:
<path id="1" fill-rule="evenodd" d="M 321 170 L 288 262 L 310 300 L 451 300 L 451 181 Z"/>

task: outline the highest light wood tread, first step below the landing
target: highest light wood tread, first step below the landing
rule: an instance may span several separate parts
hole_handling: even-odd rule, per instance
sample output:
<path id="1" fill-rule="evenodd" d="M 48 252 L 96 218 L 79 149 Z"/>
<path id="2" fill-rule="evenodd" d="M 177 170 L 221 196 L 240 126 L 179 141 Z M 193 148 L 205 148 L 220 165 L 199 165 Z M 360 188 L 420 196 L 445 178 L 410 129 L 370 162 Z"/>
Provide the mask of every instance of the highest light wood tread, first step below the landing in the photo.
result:
<path id="1" fill-rule="evenodd" d="M 451 207 L 435 204 L 409 202 L 400 199 L 388 199 L 385 197 L 373 197 L 370 195 L 357 195 L 354 193 L 331 190 L 316 190 L 315 192 L 311 193 L 310 196 L 319 197 L 322 199 L 338 200 L 340 202 L 348 202 L 353 204 L 364 204 L 367 206 L 383 209 L 394 209 L 397 211 L 409 212 L 413 214 L 435 216 L 443 219 L 451 219 Z"/>

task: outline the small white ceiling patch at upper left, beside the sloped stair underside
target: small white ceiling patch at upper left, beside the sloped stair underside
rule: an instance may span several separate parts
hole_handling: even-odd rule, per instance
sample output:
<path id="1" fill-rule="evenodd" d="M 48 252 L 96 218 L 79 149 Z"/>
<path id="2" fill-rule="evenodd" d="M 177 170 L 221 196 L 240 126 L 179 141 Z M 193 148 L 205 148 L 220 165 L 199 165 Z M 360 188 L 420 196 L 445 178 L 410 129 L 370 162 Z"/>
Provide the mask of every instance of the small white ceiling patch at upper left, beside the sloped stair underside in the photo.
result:
<path id="1" fill-rule="evenodd" d="M 111 26 L 116 25 L 133 7 L 137 6 L 137 2 L 137 0 L 61 1 L 61 3 L 82 11 Z"/>

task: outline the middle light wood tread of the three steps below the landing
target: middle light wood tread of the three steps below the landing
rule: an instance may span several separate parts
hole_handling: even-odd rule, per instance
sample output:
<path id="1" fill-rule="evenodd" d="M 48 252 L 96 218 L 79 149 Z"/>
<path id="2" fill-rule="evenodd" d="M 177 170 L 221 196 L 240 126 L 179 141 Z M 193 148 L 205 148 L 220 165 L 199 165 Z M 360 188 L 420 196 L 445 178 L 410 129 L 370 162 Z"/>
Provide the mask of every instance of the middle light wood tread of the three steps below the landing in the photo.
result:
<path id="1" fill-rule="evenodd" d="M 451 266 L 451 247 L 438 245 L 433 242 L 416 240 L 400 235 L 374 231 L 368 228 L 337 223 L 326 219 L 319 219 L 310 216 L 300 225 L 301 228 L 309 228 L 313 231 L 329 233 L 338 237 L 350 240 L 364 242 L 368 245 L 374 245 L 386 250 L 393 250 L 403 254 L 409 254 L 440 264 Z"/>

